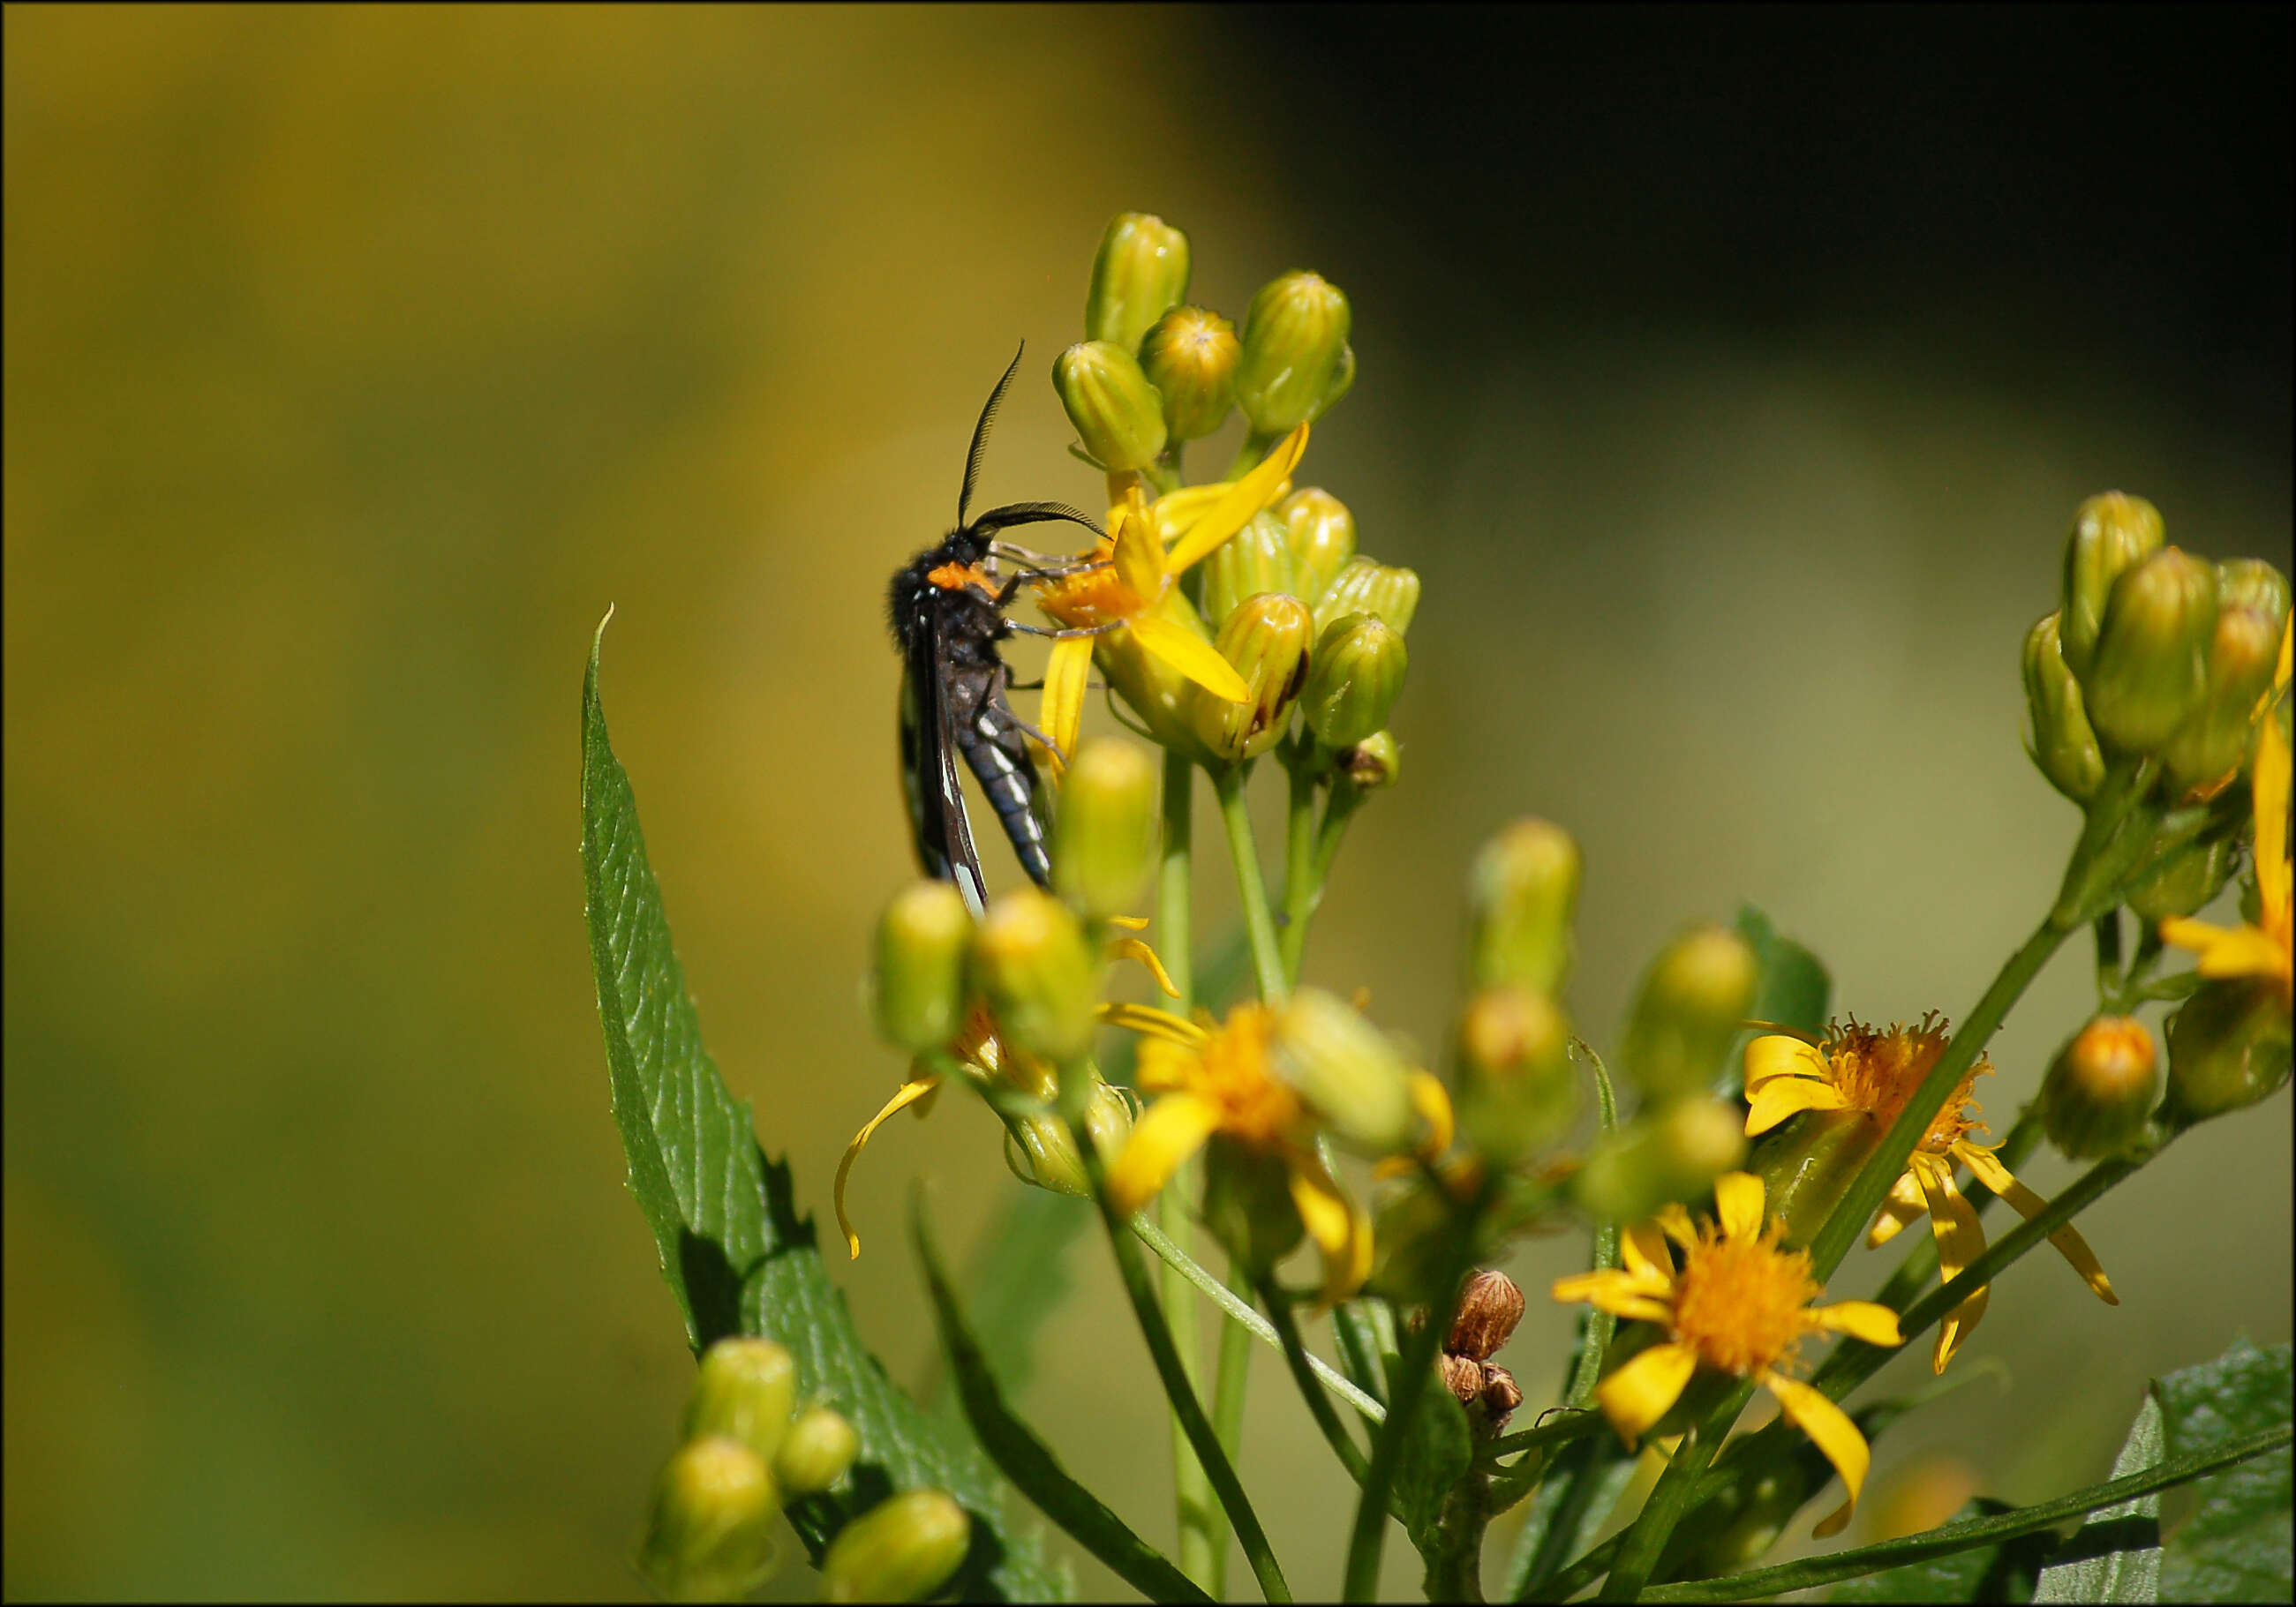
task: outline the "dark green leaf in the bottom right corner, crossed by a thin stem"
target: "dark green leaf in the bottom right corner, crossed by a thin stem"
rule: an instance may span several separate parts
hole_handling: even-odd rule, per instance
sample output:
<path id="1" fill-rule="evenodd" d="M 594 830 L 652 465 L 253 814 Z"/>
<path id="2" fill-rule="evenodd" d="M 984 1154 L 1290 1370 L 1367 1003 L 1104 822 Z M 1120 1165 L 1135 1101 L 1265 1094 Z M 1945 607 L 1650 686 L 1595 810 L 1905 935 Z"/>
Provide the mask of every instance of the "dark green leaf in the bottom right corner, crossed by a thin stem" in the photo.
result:
<path id="1" fill-rule="evenodd" d="M 2289 1345 L 2234 1341 L 2216 1361 L 2154 1382 L 2165 1455 L 2289 1421 Z M 2289 1598 L 2289 1449 L 2211 1474 L 2200 1506 L 2167 1538 L 2163 1600 L 2266 1602 Z"/>

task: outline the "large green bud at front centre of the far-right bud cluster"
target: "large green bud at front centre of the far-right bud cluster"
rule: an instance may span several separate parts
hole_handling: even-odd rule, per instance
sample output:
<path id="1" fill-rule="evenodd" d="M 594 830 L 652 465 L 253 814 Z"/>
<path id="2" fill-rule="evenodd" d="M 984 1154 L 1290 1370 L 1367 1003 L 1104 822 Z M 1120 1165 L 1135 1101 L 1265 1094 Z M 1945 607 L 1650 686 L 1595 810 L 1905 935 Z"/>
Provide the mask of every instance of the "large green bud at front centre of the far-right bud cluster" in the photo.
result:
<path id="1" fill-rule="evenodd" d="M 2089 725 L 2124 753 L 2151 753 L 2209 689 L 2216 565 L 2163 546 L 2112 583 L 2096 657 L 2080 689 Z"/>

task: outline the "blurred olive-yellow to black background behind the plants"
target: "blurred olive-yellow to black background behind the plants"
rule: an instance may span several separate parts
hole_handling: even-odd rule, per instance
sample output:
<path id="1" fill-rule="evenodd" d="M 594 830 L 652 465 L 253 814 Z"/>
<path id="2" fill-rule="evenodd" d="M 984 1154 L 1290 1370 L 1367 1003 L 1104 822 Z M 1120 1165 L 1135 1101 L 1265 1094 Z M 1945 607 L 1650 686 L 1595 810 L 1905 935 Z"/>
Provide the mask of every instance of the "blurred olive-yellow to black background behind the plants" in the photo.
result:
<path id="1" fill-rule="evenodd" d="M 1045 372 L 1118 209 L 1228 312 L 1288 266 L 1355 296 L 1302 480 L 1426 601 L 1309 966 L 1419 1042 L 1515 813 L 1582 836 L 1598 1040 L 1738 900 L 1837 1008 L 1965 1010 L 2073 829 L 2016 682 L 2073 503 L 2287 562 L 2285 11 L 5 30 L 11 1598 L 636 1586 L 689 1359 L 581 927 L 590 629 L 709 1042 L 827 1212 L 900 1072 L 859 1003 L 909 875 L 882 585 L 1022 337 L 983 491 L 1093 498 Z M 2085 964 L 1995 1040 L 1998 1116 Z M 953 1249 L 1015 1187 L 962 1100 L 863 1162 L 845 1276 L 902 1377 L 916 1173 Z M 2285 1095 L 2082 1226 L 2124 1304 L 2020 1265 L 1965 1352 L 2002 1377 L 1878 1497 L 2103 1476 L 2149 1373 L 2285 1341 Z M 1026 1407 L 1169 1540 L 1146 1357 L 1075 1263 Z M 1258 1380 L 1244 1478 L 1329 1591 L 1343 1481 Z"/>

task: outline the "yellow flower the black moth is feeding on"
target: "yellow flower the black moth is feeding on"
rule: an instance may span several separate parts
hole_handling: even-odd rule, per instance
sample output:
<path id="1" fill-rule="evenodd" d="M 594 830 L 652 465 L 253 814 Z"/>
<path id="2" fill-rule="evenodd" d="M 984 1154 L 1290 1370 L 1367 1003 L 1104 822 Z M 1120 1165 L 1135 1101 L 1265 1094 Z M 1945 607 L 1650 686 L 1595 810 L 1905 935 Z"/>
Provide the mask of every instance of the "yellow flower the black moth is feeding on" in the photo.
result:
<path id="1" fill-rule="evenodd" d="M 1215 698 L 1249 702 L 1251 689 L 1235 666 L 1203 636 L 1166 618 L 1157 604 L 1189 565 L 1283 494 L 1302 452 L 1306 452 L 1306 425 L 1283 436 L 1267 461 L 1235 484 L 1189 487 L 1150 503 L 1134 482 L 1125 500 L 1109 510 L 1109 535 L 1093 549 L 1093 562 L 1047 581 L 1038 590 L 1038 606 L 1068 629 L 1130 631 L 1146 654 L 1162 659 Z M 1038 723 L 1058 753 L 1077 746 L 1091 663 L 1091 636 L 1056 641 L 1045 663 L 1045 707 Z"/>

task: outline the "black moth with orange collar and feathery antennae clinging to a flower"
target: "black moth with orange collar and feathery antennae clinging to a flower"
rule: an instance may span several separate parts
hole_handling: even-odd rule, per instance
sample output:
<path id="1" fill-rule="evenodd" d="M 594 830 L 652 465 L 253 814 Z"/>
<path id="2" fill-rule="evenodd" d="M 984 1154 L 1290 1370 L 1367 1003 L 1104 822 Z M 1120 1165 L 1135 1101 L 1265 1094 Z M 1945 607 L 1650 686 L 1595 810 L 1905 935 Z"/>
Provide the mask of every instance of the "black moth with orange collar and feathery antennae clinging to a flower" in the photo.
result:
<path id="1" fill-rule="evenodd" d="M 964 815 L 964 792 L 957 785 L 957 753 L 980 778 L 980 790 L 996 810 L 1022 870 L 1038 886 L 1052 886 L 1052 854 L 1038 813 L 1040 783 L 1026 744 L 1026 737 L 1042 742 L 1042 735 L 1024 725 L 1006 702 L 1013 673 L 999 657 L 996 643 L 1015 631 L 1068 634 L 1015 624 L 1003 615 L 1026 581 L 1063 569 L 1022 567 L 1001 581 L 999 556 L 1026 562 L 1038 560 L 1038 553 L 1003 546 L 994 537 L 1008 526 L 1054 519 L 1100 533 L 1093 519 L 1065 503 L 1010 503 L 967 519 L 974 480 L 980 475 L 980 452 L 1015 370 L 1019 370 L 1017 351 L 1013 367 L 990 393 L 990 404 L 980 409 L 980 422 L 974 425 L 974 448 L 964 457 L 964 489 L 957 491 L 957 528 L 893 572 L 886 597 L 902 661 L 900 778 L 909 797 L 916 859 L 925 875 L 955 882 L 974 916 L 987 907 L 987 888 L 980 879 L 974 829 Z"/>

